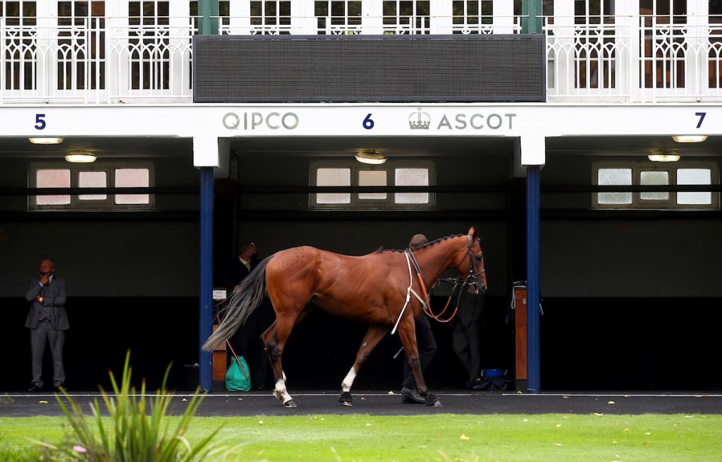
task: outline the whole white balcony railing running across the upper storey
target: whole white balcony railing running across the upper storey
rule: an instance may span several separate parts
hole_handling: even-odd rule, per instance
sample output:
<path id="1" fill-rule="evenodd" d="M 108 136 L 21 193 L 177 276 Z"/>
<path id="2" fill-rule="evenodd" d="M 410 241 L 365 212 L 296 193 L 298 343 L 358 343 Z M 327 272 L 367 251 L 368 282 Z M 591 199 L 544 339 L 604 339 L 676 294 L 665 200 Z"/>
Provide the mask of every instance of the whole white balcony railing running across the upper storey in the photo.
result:
<path id="1" fill-rule="evenodd" d="M 232 35 L 516 34 L 521 17 L 221 17 Z M 192 100 L 196 17 L 0 18 L 0 104 Z M 580 24 L 579 22 L 583 22 Z M 547 101 L 722 101 L 722 17 L 545 17 Z"/>

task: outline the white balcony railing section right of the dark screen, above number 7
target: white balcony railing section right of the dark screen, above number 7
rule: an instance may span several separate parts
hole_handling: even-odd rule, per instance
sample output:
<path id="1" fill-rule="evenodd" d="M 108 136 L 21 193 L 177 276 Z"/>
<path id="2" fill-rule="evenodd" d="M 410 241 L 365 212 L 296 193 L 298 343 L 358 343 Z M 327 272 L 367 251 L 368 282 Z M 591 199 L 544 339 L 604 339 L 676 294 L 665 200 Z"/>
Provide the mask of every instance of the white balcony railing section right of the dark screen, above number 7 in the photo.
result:
<path id="1" fill-rule="evenodd" d="M 722 18 L 544 18 L 547 100 L 627 103 L 722 100 Z M 589 17 L 585 18 L 586 20 Z"/>

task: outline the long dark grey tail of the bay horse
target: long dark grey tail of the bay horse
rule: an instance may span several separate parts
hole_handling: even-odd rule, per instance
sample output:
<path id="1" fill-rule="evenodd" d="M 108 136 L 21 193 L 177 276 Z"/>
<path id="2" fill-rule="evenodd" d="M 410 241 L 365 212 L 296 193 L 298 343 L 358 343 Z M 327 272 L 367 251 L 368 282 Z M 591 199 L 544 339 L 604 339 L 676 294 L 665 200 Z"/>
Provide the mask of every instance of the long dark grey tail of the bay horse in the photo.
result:
<path id="1" fill-rule="evenodd" d="M 256 310 L 258 305 L 261 305 L 266 291 L 266 266 L 273 257 L 271 255 L 258 263 L 251 274 L 245 276 L 243 282 L 240 283 L 238 292 L 228 299 L 226 307 L 221 312 L 223 321 L 203 344 L 202 348 L 206 352 L 211 352 L 217 344 L 230 339 L 235 331 L 238 331 L 238 327 L 245 324 L 248 316 Z"/>

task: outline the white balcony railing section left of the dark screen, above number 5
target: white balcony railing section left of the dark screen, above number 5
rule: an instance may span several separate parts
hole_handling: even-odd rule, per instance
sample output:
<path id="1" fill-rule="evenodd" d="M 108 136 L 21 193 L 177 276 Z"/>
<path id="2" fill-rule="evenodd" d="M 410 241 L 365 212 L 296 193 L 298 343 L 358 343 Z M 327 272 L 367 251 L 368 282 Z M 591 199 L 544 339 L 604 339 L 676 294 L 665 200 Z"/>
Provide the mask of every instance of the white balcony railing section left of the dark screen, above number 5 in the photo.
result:
<path id="1" fill-rule="evenodd" d="M 13 19 L 0 18 L 0 103 L 192 98 L 193 18 L 164 18 L 164 25 L 127 17 L 74 18 L 74 25 Z"/>

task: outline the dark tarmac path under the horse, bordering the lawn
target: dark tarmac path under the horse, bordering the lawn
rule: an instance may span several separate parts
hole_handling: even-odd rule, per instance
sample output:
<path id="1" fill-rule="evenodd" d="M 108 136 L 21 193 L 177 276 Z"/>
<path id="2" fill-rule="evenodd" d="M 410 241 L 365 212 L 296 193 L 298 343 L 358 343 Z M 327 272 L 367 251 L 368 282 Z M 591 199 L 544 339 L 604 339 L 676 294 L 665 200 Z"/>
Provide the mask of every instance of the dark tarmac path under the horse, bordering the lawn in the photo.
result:
<path id="1" fill-rule="evenodd" d="M 399 391 L 352 391 L 353 406 L 339 404 L 339 391 L 292 393 L 296 408 L 284 408 L 270 391 L 210 393 L 197 415 L 219 417 L 292 416 L 314 414 L 722 414 L 722 393 L 638 392 L 435 392 L 443 406 L 402 404 Z M 97 392 L 69 393 L 90 413 Z M 149 393 L 149 396 L 155 396 Z M 191 398 L 174 394 L 170 414 L 181 414 Z M 0 417 L 61 416 L 54 393 L 6 393 L 0 395 Z"/>

